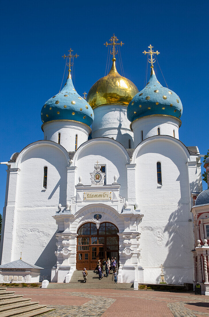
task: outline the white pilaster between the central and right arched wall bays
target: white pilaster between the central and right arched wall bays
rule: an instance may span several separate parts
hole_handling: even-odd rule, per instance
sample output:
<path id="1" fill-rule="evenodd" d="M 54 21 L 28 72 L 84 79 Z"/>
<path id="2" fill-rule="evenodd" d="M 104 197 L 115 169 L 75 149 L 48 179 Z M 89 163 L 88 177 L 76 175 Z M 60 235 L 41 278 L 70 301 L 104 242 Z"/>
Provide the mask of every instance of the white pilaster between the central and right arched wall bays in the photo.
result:
<path id="1" fill-rule="evenodd" d="M 126 164 L 127 167 L 127 184 L 128 184 L 128 205 L 132 205 L 134 209 L 134 204 L 136 202 L 136 180 L 135 171 L 136 164 Z M 129 207 L 130 208 L 130 207 Z"/>

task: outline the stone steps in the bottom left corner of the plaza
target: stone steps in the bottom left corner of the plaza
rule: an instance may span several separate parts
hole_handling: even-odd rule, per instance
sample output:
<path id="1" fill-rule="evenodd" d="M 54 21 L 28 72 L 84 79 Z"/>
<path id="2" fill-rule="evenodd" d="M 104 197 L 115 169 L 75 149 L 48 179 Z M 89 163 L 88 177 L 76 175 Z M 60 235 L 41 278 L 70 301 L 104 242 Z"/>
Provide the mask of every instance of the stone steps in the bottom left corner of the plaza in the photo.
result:
<path id="1" fill-rule="evenodd" d="M 32 317 L 51 309 L 39 302 L 31 302 L 31 298 L 22 298 L 23 295 L 14 295 L 15 292 L 0 288 L 0 316 L 1 317 Z"/>

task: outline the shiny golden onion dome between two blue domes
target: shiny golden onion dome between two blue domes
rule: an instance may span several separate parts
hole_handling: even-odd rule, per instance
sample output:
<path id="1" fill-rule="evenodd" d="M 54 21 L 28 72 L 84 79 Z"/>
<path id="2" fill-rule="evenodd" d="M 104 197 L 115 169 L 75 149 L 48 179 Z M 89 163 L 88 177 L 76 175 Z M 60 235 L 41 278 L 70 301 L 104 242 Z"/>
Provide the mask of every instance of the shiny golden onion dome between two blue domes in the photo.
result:
<path id="1" fill-rule="evenodd" d="M 109 74 L 100 78 L 88 92 L 87 102 L 92 109 L 109 104 L 122 104 L 128 107 L 129 102 L 139 92 L 132 81 L 117 72 L 116 59 L 113 58 L 112 61 Z"/>

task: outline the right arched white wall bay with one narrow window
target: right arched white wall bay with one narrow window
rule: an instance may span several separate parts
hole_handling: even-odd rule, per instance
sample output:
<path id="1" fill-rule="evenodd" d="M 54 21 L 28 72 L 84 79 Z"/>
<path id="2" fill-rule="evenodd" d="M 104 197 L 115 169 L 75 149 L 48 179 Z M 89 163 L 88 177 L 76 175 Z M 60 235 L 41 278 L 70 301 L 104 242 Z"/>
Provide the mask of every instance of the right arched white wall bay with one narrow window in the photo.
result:
<path id="1" fill-rule="evenodd" d="M 160 281 L 161 264 L 167 283 L 193 281 L 188 159 L 175 143 L 145 140 L 135 160 L 136 199 L 144 214 L 139 227 L 144 282 Z M 162 187 L 157 184 L 157 161 L 162 165 Z"/>

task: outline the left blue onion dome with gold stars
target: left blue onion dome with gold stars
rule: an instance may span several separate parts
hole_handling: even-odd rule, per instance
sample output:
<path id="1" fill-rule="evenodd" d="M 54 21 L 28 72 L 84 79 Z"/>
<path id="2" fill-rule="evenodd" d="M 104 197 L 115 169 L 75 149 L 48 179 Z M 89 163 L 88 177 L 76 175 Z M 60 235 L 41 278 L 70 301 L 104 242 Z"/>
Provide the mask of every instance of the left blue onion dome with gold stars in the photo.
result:
<path id="1" fill-rule="evenodd" d="M 74 120 L 91 126 L 94 114 L 92 107 L 76 92 L 70 77 L 60 93 L 46 101 L 41 109 L 41 120 L 43 123 L 52 120 Z"/>

